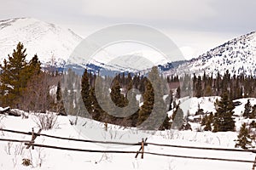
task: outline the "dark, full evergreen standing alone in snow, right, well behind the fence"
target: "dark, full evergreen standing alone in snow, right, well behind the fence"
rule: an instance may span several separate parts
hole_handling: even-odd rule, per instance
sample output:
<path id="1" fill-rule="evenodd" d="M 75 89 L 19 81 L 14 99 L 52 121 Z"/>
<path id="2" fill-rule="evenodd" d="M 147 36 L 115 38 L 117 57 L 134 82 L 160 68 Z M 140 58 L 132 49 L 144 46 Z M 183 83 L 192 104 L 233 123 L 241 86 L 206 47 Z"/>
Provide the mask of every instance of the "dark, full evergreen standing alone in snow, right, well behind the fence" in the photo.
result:
<path id="1" fill-rule="evenodd" d="M 213 117 L 213 132 L 226 132 L 235 130 L 235 121 L 232 117 L 235 106 L 228 98 L 228 94 L 224 93 L 222 99 L 218 101 L 217 111 Z"/>

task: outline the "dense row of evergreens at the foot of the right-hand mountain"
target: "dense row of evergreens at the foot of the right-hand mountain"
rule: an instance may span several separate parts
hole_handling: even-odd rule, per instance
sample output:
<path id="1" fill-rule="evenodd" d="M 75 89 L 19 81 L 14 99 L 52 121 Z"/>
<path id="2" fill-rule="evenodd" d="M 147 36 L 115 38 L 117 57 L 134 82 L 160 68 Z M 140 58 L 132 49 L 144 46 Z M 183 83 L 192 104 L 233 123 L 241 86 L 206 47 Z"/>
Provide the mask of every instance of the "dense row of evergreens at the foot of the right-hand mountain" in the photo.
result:
<path id="1" fill-rule="evenodd" d="M 173 84 L 176 85 L 184 96 L 188 95 L 188 92 L 193 93 L 193 96 L 197 98 L 221 96 L 224 93 L 227 93 L 228 98 L 232 100 L 256 96 L 256 77 L 245 75 L 231 77 L 228 70 L 224 76 L 218 73 L 216 77 L 213 77 L 213 74 L 207 75 L 204 72 L 202 77 L 194 74 L 192 80 L 189 75 L 185 75 L 184 77 L 170 76 L 167 77 L 167 81 L 170 87 Z M 180 92 L 177 93 L 177 97 L 183 97 L 180 95 Z"/>

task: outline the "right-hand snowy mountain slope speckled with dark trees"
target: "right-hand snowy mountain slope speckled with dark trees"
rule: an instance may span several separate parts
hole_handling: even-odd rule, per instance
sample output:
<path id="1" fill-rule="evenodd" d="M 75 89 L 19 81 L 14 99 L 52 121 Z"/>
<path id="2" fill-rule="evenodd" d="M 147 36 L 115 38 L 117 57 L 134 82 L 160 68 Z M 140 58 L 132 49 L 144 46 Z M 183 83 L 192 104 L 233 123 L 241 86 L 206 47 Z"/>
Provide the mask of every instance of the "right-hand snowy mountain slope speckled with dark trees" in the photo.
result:
<path id="1" fill-rule="evenodd" d="M 209 40 L 210 41 L 210 40 Z M 241 37 L 225 42 L 217 48 L 212 48 L 206 54 L 201 54 L 196 59 L 190 59 L 175 71 L 181 73 L 189 69 L 190 73 L 203 74 L 203 71 L 214 75 L 229 70 L 231 75 L 256 76 L 256 32 L 251 32 Z"/>

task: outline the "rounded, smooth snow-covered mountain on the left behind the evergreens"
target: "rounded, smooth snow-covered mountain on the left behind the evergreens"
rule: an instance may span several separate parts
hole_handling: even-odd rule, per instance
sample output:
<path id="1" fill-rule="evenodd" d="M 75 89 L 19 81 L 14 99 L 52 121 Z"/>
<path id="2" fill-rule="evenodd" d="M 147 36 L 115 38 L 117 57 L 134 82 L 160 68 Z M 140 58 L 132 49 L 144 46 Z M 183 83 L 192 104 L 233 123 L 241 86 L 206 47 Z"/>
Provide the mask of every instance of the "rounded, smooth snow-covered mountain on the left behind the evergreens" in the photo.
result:
<path id="1" fill-rule="evenodd" d="M 38 54 L 44 64 L 64 65 L 82 38 L 73 31 L 32 18 L 0 20 L 0 60 L 12 54 L 18 42 L 26 48 L 27 59 Z"/>

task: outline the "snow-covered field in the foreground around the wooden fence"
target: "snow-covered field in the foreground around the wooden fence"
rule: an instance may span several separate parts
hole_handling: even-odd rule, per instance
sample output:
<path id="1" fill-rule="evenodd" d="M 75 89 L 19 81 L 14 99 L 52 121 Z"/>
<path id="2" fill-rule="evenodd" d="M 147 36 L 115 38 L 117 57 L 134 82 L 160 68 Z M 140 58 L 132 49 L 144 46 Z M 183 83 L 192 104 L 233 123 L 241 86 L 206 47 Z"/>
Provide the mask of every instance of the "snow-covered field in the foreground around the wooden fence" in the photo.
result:
<path id="1" fill-rule="evenodd" d="M 212 101 L 214 97 L 212 97 Z M 201 98 L 195 99 L 195 102 L 191 102 L 191 105 L 196 105 L 197 102 L 203 105 L 207 105 L 205 109 L 212 110 L 210 103 L 207 103 L 211 99 Z M 241 105 L 237 106 L 235 111 L 242 111 L 247 99 L 240 99 Z M 255 99 L 252 99 L 251 103 L 254 105 Z M 253 103 L 254 102 L 254 103 Z M 193 103 L 193 104 L 192 104 Z M 214 102 L 213 102 L 214 103 Z M 192 108 L 194 108 L 193 106 Z M 191 110 L 191 114 L 193 111 Z M 27 113 L 26 113 L 27 114 Z M 82 131 L 81 127 L 72 126 L 69 122 L 69 116 L 58 116 L 54 129 L 48 131 L 42 131 L 44 134 L 51 134 L 55 136 L 73 138 L 73 139 L 92 139 L 91 134 L 86 135 L 86 131 Z M 236 118 L 237 121 L 239 119 Z M 35 132 L 38 132 L 38 125 L 36 123 L 37 116 L 34 114 L 28 114 L 28 118 L 15 117 L 15 116 L 0 116 L 0 127 L 6 129 L 13 129 L 24 132 L 31 132 L 32 127 L 35 127 Z M 85 130 L 91 127 L 104 128 L 103 124 L 94 122 L 88 119 L 81 119 L 83 122 L 87 122 L 83 127 Z M 246 122 L 247 120 L 238 121 L 236 123 Z M 80 129 L 80 130 L 79 130 Z M 111 133 L 113 130 L 119 133 L 136 131 L 136 129 L 129 129 L 125 127 L 118 127 L 108 125 L 108 131 L 105 133 Z M 104 132 L 104 129 L 103 129 Z M 99 135 L 95 133 L 95 135 Z M 199 146 L 209 148 L 230 148 L 234 149 L 237 133 L 211 133 L 211 132 L 196 132 L 196 131 L 159 131 L 153 135 L 148 135 L 148 141 L 150 143 L 158 144 L 177 144 L 186 146 Z M 0 131 L 1 139 L 22 139 L 31 140 L 30 135 L 8 133 Z M 125 137 L 124 137 L 125 138 Z M 108 139 L 109 140 L 109 139 Z M 123 142 L 129 142 L 124 139 Z M 140 142 L 140 141 L 137 141 Z M 68 141 L 61 139 L 51 139 L 44 136 L 39 136 L 35 139 L 36 144 L 55 145 L 60 147 L 70 147 L 85 150 L 139 150 L 139 145 L 136 146 L 120 146 L 110 147 L 104 144 L 92 144 L 76 141 Z M 200 160 L 189 158 L 177 158 L 168 156 L 152 156 L 145 154 L 144 159 L 141 159 L 141 155 L 135 158 L 135 154 L 120 154 L 120 153 L 89 153 L 69 150 L 55 150 L 47 148 L 35 147 L 26 150 L 26 146 L 21 143 L 12 143 L 0 141 L 0 169 L 166 169 L 166 170 L 179 170 L 179 169 L 252 169 L 253 163 L 233 162 L 233 161 L 212 161 L 212 160 Z M 220 150 L 191 150 L 174 147 L 154 146 L 148 144 L 145 146 L 145 151 L 169 154 L 177 156 L 199 156 L 199 157 L 215 157 L 226 158 L 236 160 L 254 161 L 255 154 L 250 152 L 234 152 L 234 151 L 220 151 Z M 32 166 L 26 167 L 22 165 L 22 159 L 27 158 L 32 161 Z"/>

